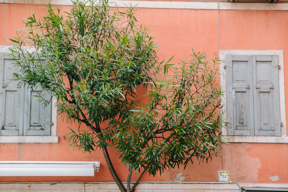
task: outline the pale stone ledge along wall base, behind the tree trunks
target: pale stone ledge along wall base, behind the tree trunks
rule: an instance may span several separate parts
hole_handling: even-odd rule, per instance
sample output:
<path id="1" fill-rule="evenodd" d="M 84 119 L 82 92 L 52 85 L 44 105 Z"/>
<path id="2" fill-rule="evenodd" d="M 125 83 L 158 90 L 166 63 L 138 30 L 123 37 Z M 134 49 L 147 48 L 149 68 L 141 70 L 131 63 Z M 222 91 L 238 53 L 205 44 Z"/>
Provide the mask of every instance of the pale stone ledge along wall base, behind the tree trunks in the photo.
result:
<path id="1" fill-rule="evenodd" d="M 126 187 L 126 183 L 124 183 Z M 0 183 L 0 192 L 120 192 L 115 183 Z M 135 192 L 239 192 L 235 183 L 139 183 Z"/>

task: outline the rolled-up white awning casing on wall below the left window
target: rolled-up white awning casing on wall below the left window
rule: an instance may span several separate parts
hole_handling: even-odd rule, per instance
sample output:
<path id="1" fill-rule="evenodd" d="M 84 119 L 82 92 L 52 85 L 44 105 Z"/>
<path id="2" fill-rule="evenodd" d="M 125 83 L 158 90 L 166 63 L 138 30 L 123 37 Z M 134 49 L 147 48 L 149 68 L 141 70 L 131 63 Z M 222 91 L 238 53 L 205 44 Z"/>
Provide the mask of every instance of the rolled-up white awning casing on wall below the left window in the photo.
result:
<path id="1" fill-rule="evenodd" d="M 0 161 L 0 176 L 94 176 L 98 161 Z"/>

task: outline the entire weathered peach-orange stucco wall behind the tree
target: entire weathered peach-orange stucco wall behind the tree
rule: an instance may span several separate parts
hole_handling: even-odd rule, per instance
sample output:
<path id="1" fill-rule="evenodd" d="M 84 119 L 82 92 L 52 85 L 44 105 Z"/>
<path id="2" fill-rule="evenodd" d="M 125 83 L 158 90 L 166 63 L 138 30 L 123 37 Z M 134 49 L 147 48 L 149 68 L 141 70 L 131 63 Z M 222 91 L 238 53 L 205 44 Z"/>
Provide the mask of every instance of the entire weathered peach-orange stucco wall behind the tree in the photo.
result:
<path id="1" fill-rule="evenodd" d="M 4 39 L 14 35 L 13 30 L 24 28 L 22 18 L 34 12 L 36 16 L 43 15 L 39 7 L 42 5 L 0 3 L 0 45 L 8 45 Z M 137 13 L 141 23 L 151 27 L 151 34 L 160 41 L 160 60 L 172 55 L 172 63 L 188 59 L 192 47 L 195 51 L 205 51 L 209 56 L 219 52 L 218 10 L 139 8 Z M 219 10 L 219 21 L 221 50 L 284 50 L 286 64 L 288 11 Z M 287 73 L 288 67 L 285 76 Z M 287 91 L 285 88 L 286 95 Z M 100 172 L 95 172 L 94 177 L 0 177 L 0 182 L 113 182 L 102 152 L 83 154 L 73 151 L 65 136 L 68 133 L 66 121 L 58 116 L 57 122 L 58 143 L 0 144 L 0 161 L 100 161 Z M 78 128 L 76 124 L 68 126 Z M 223 152 L 227 155 L 214 157 L 212 162 L 199 164 L 195 159 L 195 163 L 184 171 L 183 167 L 166 170 L 155 178 L 145 174 L 141 181 L 173 181 L 179 172 L 186 176 L 184 181 L 187 182 L 215 182 L 219 170 L 228 170 L 230 179 L 236 182 L 275 183 L 269 176 L 277 174 L 280 177 L 277 183 L 288 183 L 287 144 L 231 143 L 223 145 Z M 125 181 L 128 175 L 126 167 L 115 157 L 113 150 L 109 153 L 116 172 Z M 134 176 L 132 180 L 135 179 Z"/>

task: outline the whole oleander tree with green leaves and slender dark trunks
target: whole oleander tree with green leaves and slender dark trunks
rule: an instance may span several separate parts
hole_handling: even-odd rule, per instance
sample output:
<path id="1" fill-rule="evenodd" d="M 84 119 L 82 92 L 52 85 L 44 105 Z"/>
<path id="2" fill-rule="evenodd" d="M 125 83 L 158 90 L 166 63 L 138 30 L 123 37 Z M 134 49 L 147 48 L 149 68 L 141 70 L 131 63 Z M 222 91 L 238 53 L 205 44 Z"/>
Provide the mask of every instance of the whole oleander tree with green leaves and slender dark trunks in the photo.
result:
<path id="1" fill-rule="evenodd" d="M 14 80 L 51 92 L 64 120 L 86 125 L 69 128 L 70 146 L 102 149 L 121 192 L 133 192 L 145 172 L 208 161 L 225 142 L 217 56 L 193 51 L 177 65 L 169 64 L 173 57 L 159 62 L 156 41 L 135 11 L 107 0 L 72 0 L 70 12 L 49 4 L 46 16 L 24 20 L 9 49 L 19 69 Z M 129 170 L 126 188 L 107 148 Z M 132 186 L 133 172 L 139 178 Z"/>

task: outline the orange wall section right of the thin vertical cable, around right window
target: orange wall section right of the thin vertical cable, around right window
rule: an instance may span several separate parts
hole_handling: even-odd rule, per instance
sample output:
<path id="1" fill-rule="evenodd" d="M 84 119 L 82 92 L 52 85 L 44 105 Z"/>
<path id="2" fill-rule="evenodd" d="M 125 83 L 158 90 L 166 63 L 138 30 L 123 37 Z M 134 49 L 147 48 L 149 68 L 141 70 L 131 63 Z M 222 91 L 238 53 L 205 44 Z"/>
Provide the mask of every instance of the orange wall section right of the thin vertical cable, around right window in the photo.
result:
<path id="1" fill-rule="evenodd" d="M 283 50 L 284 80 L 287 85 L 287 13 L 288 11 L 219 10 L 220 49 Z M 288 87 L 285 86 L 285 95 L 287 94 Z M 287 109 L 287 97 L 285 100 Z M 287 147 L 287 144 L 271 143 L 223 145 L 228 154 L 223 158 L 223 168 L 231 171 L 233 181 L 288 183 Z M 271 181 L 269 176 L 272 175 L 278 175 L 280 180 Z"/>

